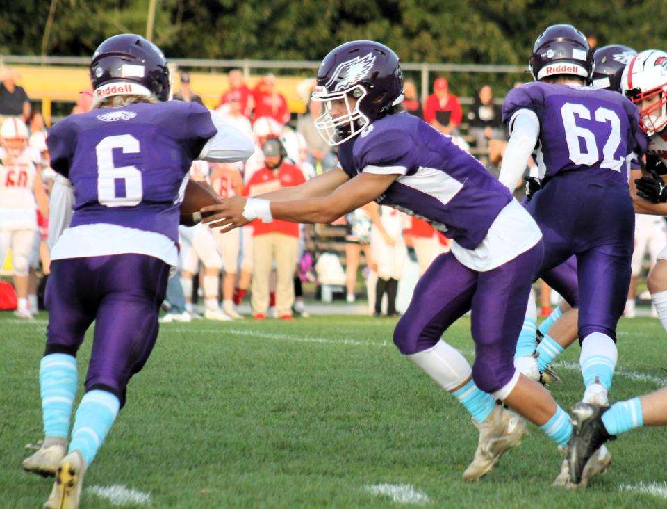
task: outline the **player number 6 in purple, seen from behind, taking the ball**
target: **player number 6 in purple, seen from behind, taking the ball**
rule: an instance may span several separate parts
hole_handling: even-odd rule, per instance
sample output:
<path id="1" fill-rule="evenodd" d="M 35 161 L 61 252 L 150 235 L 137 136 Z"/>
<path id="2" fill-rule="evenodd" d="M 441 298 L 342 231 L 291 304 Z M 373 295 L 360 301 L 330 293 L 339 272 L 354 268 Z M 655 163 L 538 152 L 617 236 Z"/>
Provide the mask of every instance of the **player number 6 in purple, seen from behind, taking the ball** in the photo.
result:
<path id="1" fill-rule="evenodd" d="M 40 362 L 45 437 L 23 463 L 27 471 L 56 476 L 46 508 L 79 507 L 85 471 L 125 403 L 130 378 L 153 349 L 176 265 L 190 164 L 240 161 L 254 150 L 203 106 L 168 100 L 167 60 L 140 35 L 102 42 L 90 76 L 92 111 L 60 120 L 47 140 L 61 177 L 51 200 L 54 223 L 69 227 L 51 229 L 57 241 Z M 76 353 L 93 321 L 85 394 L 70 435 Z"/>

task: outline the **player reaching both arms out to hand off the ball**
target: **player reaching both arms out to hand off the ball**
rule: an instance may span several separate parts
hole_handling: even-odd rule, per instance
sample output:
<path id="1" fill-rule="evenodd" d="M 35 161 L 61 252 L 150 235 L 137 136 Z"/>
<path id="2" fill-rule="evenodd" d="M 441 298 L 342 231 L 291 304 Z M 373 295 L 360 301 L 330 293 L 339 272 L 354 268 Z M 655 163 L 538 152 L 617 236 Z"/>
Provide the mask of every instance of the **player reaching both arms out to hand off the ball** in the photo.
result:
<path id="1" fill-rule="evenodd" d="M 567 414 L 513 365 L 542 259 L 534 220 L 452 138 L 404 111 L 402 72 L 388 47 L 347 42 L 324 58 L 317 81 L 312 100 L 323 102 L 325 112 L 315 124 L 329 145 L 338 145 L 338 168 L 302 186 L 204 207 L 215 211 L 207 222 L 223 231 L 255 218 L 328 223 L 372 200 L 427 220 L 452 239 L 451 251 L 436 258 L 418 282 L 394 342 L 463 403 L 479 428 L 475 458 L 463 478 L 486 475 L 526 433 L 525 421 L 495 399 L 566 445 Z M 471 309 L 472 368 L 441 339 Z"/>

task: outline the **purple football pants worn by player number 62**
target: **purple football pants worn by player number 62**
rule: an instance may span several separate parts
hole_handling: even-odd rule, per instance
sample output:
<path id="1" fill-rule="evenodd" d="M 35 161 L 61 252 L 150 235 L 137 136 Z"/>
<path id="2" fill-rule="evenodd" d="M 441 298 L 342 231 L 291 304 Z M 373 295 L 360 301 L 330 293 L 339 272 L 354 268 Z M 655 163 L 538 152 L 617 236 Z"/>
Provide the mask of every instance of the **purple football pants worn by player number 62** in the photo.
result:
<path id="1" fill-rule="evenodd" d="M 627 186 L 595 170 L 559 174 L 528 205 L 544 236 L 541 273 L 577 257 L 579 341 L 593 332 L 616 341 L 634 248 Z"/>

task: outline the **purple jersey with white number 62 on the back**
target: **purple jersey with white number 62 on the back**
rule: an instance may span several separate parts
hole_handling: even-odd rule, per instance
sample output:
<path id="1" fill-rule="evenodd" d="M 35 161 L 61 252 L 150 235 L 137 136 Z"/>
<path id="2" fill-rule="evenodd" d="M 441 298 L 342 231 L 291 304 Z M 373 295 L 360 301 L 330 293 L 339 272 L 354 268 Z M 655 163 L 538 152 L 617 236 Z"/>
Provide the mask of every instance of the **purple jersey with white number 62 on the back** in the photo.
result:
<path id="1" fill-rule="evenodd" d="M 502 105 L 509 125 L 522 109 L 540 122 L 536 161 L 540 177 L 586 170 L 627 184 L 627 157 L 639 145 L 637 108 L 618 92 L 586 86 L 527 83 Z"/>

